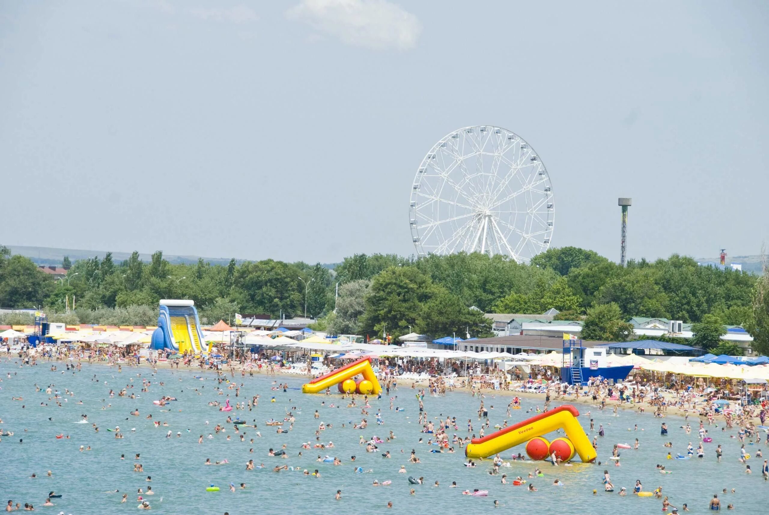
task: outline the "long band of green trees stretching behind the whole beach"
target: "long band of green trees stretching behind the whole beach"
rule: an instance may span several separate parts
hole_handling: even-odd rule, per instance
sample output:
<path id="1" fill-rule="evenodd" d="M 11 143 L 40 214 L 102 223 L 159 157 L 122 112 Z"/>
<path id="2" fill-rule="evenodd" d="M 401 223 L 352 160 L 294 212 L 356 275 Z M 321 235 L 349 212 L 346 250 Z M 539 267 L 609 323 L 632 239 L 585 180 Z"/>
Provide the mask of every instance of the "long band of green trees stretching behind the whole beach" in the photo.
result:
<path id="1" fill-rule="evenodd" d="M 338 287 L 338 297 L 336 291 Z M 594 251 L 551 248 L 530 264 L 501 255 L 401 257 L 355 254 L 333 270 L 302 261 L 235 259 L 212 265 L 171 264 L 161 251 L 148 262 L 138 252 L 115 262 L 108 253 L 78 260 L 54 280 L 27 257 L 0 247 L 0 307 L 44 307 L 93 319 L 105 309 L 156 307 L 161 298 L 195 301 L 208 323 L 231 322 L 235 312 L 271 317 L 317 317 L 337 334 L 409 331 L 458 337 L 488 336 L 483 313 L 542 314 L 584 319 L 583 336 L 622 340 L 630 317 L 665 317 L 694 324 L 742 325 L 769 351 L 767 274 L 702 267 L 673 254 L 621 267 Z M 121 315 L 125 318 L 125 313 Z M 72 318 L 74 320 L 74 318 Z M 762 331 L 762 329 L 766 328 Z M 763 342 L 763 343 L 762 343 Z"/>

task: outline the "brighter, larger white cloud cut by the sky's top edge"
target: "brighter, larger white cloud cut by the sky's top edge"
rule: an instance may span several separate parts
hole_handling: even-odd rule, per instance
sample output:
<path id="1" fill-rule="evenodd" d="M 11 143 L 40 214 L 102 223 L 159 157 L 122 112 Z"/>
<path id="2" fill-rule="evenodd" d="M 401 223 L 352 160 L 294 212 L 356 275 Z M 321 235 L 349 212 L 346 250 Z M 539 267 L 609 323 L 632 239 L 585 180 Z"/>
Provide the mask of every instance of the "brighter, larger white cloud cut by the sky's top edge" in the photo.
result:
<path id="1" fill-rule="evenodd" d="M 422 28 L 416 16 L 387 0 L 301 0 L 286 15 L 348 45 L 376 50 L 414 48 Z"/>

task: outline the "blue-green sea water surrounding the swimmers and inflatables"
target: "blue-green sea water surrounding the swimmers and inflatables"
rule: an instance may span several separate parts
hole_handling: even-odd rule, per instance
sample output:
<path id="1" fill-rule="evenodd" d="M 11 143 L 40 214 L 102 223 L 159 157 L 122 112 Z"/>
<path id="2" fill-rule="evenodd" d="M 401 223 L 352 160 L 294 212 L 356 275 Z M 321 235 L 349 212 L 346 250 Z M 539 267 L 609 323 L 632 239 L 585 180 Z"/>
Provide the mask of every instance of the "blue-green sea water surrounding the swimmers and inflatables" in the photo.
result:
<path id="1" fill-rule="evenodd" d="M 428 446 L 426 442 L 431 435 L 420 431 L 417 390 L 411 389 L 411 382 L 401 381 L 398 389 L 391 390 L 389 396 L 383 392 L 381 400 L 372 397 L 367 416 L 361 414 L 361 398 L 358 407 L 348 408 L 348 401 L 336 393 L 302 394 L 299 388 L 306 380 L 302 377 L 267 377 L 265 374 L 241 377 L 238 374 L 235 380 L 244 385 L 240 396 L 235 397 L 235 390 L 228 390 L 227 384 L 221 385 L 224 394 L 218 395 L 215 374 L 209 372 L 158 370 L 152 376 L 147 368 L 123 367 L 122 372 L 118 372 L 115 367 L 84 365 L 78 373 L 65 371 L 62 374 L 64 367 L 65 364 L 58 363 L 58 371 L 54 372 L 49 370 L 47 363 L 36 367 L 18 367 L 13 362 L 0 364 L 0 418 L 3 420 L 0 426 L 15 433 L 2 437 L 0 443 L 0 500 L 3 506 L 12 499 L 22 505 L 32 503 L 43 513 L 59 513 L 60 510 L 73 515 L 136 513 L 138 488 L 146 490 L 151 485 L 155 495 L 144 497 L 151 504 L 152 513 L 360 514 L 384 510 L 388 501 L 398 513 L 481 513 L 493 509 L 493 500 L 499 500 L 514 513 L 598 514 L 628 513 L 630 510 L 654 513 L 661 510 L 661 500 L 639 498 L 630 493 L 635 480 L 640 479 L 644 490 L 662 487 L 671 504 L 681 507 L 682 503 L 687 503 L 694 513 L 706 511 L 714 493 L 719 494 L 724 509 L 727 503 L 734 503 L 733 513 L 767 513 L 769 507 L 769 483 L 761 477 L 763 458 L 748 460 L 754 473 L 744 473 L 745 466 L 738 461 L 740 444 L 732 438 L 736 430 L 722 432 L 722 422 L 719 427 L 706 425 L 713 443 L 704 444 L 704 459 L 665 459 L 668 451 L 674 456 L 686 454 L 690 441 L 697 447 L 697 417 L 689 419 L 692 426 L 689 435 L 680 428 L 685 424 L 683 418 L 665 417 L 663 420 L 667 422 L 669 434 L 663 437 L 660 434 L 661 420 L 651 414 L 620 410 L 615 417 L 611 410 L 578 404 L 581 424 L 591 440 L 598 434 L 599 424 L 604 426 L 606 436 L 598 438 L 598 460 L 603 464 L 581 464 L 577 459 L 573 467 L 554 467 L 548 462 L 531 461 L 511 462 L 510 467 L 501 467 L 501 473 L 507 474 L 510 483 L 514 477 L 526 478 L 535 467 L 540 467 L 544 477 L 528 479 L 538 491 L 529 492 L 525 486 L 501 484 L 501 473 L 497 476 L 488 473 L 490 460 L 478 460 L 475 468 L 464 467 L 466 458 L 458 445 L 454 444 L 457 450 L 454 454 L 429 452 L 436 446 Z M 12 374 L 10 378 L 8 373 Z M 196 375 L 201 377 L 196 378 Z M 149 392 L 141 392 L 142 377 L 152 380 Z M 288 382 L 288 391 L 271 390 L 275 380 Z M 165 382 L 165 386 L 160 386 L 160 381 Z M 35 392 L 35 385 L 42 391 Z M 55 399 L 49 399 L 53 394 L 45 394 L 48 385 L 61 392 L 62 407 L 55 404 Z M 108 397 L 110 389 L 118 392 L 126 385 L 133 385 L 128 392 L 138 398 Z M 65 388 L 74 391 L 75 396 L 65 395 Z M 234 405 L 238 401 L 248 401 L 255 394 L 260 394 L 261 398 L 258 407 L 251 411 L 225 413 L 218 407 L 208 406 L 209 401 L 219 401 L 223 405 L 225 399 Z M 152 400 L 161 395 L 177 397 L 178 401 L 166 407 L 152 404 Z M 270 401 L 273 396 L 274 403 Z M 23 397 L 24 400 L 12 400 L 12 397 Z M 390 410 L 389 397 L 394 397 L 394 406 L 402 407 L 404 411 Z M 78 400 L 83 404 L 75 404 Z M 452 427 L 449 434 L 464 437 L 468 435 L 468 419 L 472 420 L 474 434 L 478 434 L 480 400 L 464 392 L 449 392 L 445 397 L 425 396 L 424 407 L 436 426 L 438 420 L 435 417 L 443 420 L 447 416 L 457 417 L 458 430 Z M 508 424 L 514 424 L 533 416 L 535 407 L 541 407 L 544 402 L 541 398 L 523 399 L 522 409 L 513 410 L 511 417 L 505 417 L 510 400 L 507 396 L 484 394 L 492 426 L 485 430 L 486 434 L 494 430 L 494 424 L 503 424 L 505 419 Z M 325 406 L 321 402 L 325 402 Z M 41 403 L 48 405 L 41 406 Z M 330 407 L 332 403 L 335 407 Z M 553 407 L 556 405 L 558 403 L 553 403 Z M 297 409 L 293 410 L 296 422 L 290 433 L 276 434 L 277 427 L 264 424 L 271 418 L 283 420 L 292 407 Z M 131 410 L 135 409 L 139 410 L 140 416 L 131 415 Z M 376 424 L 378 409 L 383 425 Z M 313 416 L 315 410 L 320 414 L 318 419 Z M 88 424 L 78 424 L 81 414 L 88 415 Z M 154 427 L 152 420 L 145 418 L 148 414 L 152 414 L 152 420 L 167 421 L 168 427 Z M 249 423 L 256 420 L 262 436 L 257 437 L 256 430 L 247 427 L 241 430 L 241 433 L 245 430 L 245 441 L 241 442 L 232 425 L 225 424 L 228 414 Z M 593 432 L 589 430 L 590 417 L 594 419 Z M 360 423 L 362 418 L 368 420 L 368 428 L 354 429 L 352 425 Z M 331 440 L 335 447 L 301 449 L 303 442 L 315 444 L 315 430 L 321 421 L 333 425 L 321 431 L 321 442 L 328 444 Z M 92 424 L 99 427 L 98 433 Z M 223 424 L 225 433 L 215 434 L 216 424 Z M 638 430 L 634 430 L 635 424 L 638 424 Z M 116 440 L 115 433 L 107 431 L 115 426 L 120 426 L 125 438 Z M 288 423 L 283 427 L 288 428 Z M 173 434 L 170 438 L 165 437 L 168 430 Z M 393 431 L 396 438 L 378 444 L 376 452 L 367 453 L 365 446 L 358 444 L 361 435 L 366 439 L 377 435 L 384 440 L 389 431 Z M 181 432 L 181 437 L 176 437 L 177 432 Z M 58 440 L 55 438 L 57 434 L 70 435 L 70 438 Z M 204 440 L 198 444 L 201 434 Z M 214 438 L 208 439 L 208 434 L 213 434 Z M 231 441 L 226 440 L 228 435 Z M 420 437 L 424 444 L 418 444 Z M 549 435 L 550 439 L 554 437 L 554 434 Z M 24 442 L 19 444 L 22 438 Z M 253 444 L 249 442 L 251 438 L 255 439 Z M 641 444 L 640 449 L 622 450 L 621 467 L 614 467 L 608 460 L 612 446 L 632 446 L 635 438 Z M 673 442 L 673 447 L 663 447 L 665 441 Z M 288 445 L 288 459 L 268 457 L 270 447 L 278 450 L 283 444 Z M 717 444 L 724 449 L 721 463 L 716 461 Z M 92 450 L 80 452 L 81 445 L 91 446 Z M 746 446 L 753 455 L 762 447 L 766 447 L 765 444 Z M 249 452 L 251 448 L 252 453 Z M 408 463 L 412 449 L 421 464 Z M 387 450 L 391 459 L 381 456 Z M 298 457 L 299 451 L 302 457 Z M 502 456 L 507 460 L 518 452 L 524 452 L 524 447 L 505 451 Z M 134 459 L 137 453 L 139 460 Z M 125 460 L 120 459 L 121 454 L 125 454 Z M 325 457 L 327 454 L 339 457 L 343 464 L 334 466 L 316 461 L 318 455 Z M 357 457 L 355 464 L 350 460 L 353 455 Z M 211 462 L 226 459 L 229 463 L 205 466 L 206 458 Z M 245 470 L 249 459 L 257 465 L 264 463 L 267 468 Z M 141 463 L 144 473 L 133 472 L 134 463 Z M 298 467 L 300 471 L 272 471 L 275 465 L 284 464 Z M 672 473 L 659 473 L 655 469 L 657 464 L 664 465 Z M 401 465 L 405 465 L 408 473 L 398 473 Z M 356 473 L 355 467 L 373 472 Z M 307 477 L 301 472 L 304 469 L 310 472 L 318 469 L 321 477 Z M 611 474 L 614 493 L 603 491 L 604 469 Z M 52 477 L 46 476 L 47 470 L 52 470 Z M 32 473 L 38 477 L 30 478 Z M 151 483 L 145 481 L 148 475 L 152 477 Z M 424 477 L 424 484 L 409 484 L 409 476 Z M 564 485 L 553 486 L 556 478 Z M 391 480 L 392 484 L 373 487 L 374 480 Z M 436 480 L 439 487 L 433 486 Z M 457 482 L 458 488 L 449 487 L 452 481 Z M 221 491 L 207 492 L 205 489 L 211 483 Z M 235 483 L 235 493 L 228 490 L 230 483 Z M 240 490 L 240 483 L 246 483 L 245 490 Z M 618 495 L 620 487 L 628 489 L 627 497 Z M 411 488 L 416 490 L 414 495 L 410 494 Z M 462 490 L 474 488 L 488 490 L 488 497 L 461 494 Z M 722 494 L 723 488 L 730 493 Z M 736 489 L 735 493 L 731 493 L 732 488 Z M 598 490 L 597 494 L 593 494 L 594 489 Z M 55 507 L 42 507 L 50 490 L 61 493 L 62 498 L 53 500 Z M 108 490 L 119 490 L 119 493 L 105 493 Z M 341 500 L 334 499 L 337 490 L 342 491 Z M 128 493 L 128 502 L 120 503 L 122 493 Z"/>

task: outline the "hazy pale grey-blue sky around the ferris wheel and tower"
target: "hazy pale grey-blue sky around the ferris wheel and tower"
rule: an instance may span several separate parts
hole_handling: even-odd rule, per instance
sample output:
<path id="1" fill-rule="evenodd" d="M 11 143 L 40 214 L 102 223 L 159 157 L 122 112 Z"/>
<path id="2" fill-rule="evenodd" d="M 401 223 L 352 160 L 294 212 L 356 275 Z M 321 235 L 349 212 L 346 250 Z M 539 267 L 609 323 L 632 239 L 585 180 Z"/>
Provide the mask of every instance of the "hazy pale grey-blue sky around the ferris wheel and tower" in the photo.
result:
<path id="1" fill-rule="evenodd" d="M 536 148 L 553 244 L 769 241 L 767 2 L 0 1 L 0 242 L 412 254 L 411 182 L 466 125 Z"/>

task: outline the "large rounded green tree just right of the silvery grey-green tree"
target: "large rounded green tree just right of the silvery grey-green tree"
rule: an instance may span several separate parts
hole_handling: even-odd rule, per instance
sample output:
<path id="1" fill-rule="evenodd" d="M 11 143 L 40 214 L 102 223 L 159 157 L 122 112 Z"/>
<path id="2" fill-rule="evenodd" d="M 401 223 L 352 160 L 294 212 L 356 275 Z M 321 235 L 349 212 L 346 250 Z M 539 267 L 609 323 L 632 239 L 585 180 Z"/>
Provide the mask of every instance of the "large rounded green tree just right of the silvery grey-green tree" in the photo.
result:
<path id="1" fill-rule="evenodd" d="M 366 310 L 360 317 L 361 329 L 370 334 L 387 331 L 397 338 L 416 326 L 421 304 L 434 288 L 430 277 L 415 267 L 390 267 L 376 275 L 366 296 Z"/>

